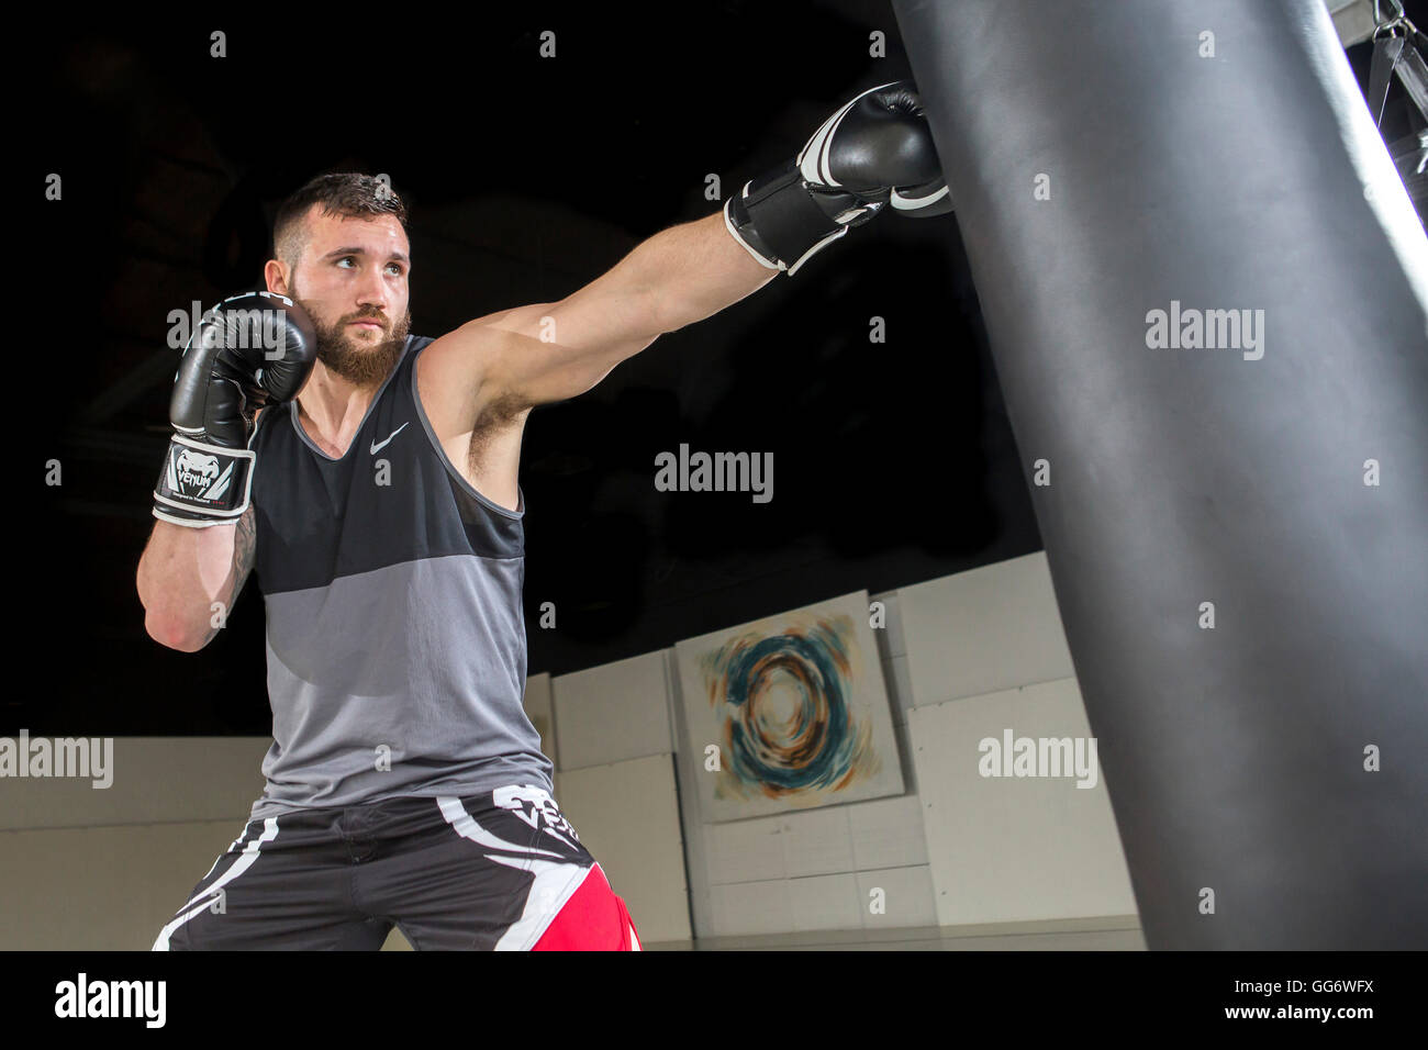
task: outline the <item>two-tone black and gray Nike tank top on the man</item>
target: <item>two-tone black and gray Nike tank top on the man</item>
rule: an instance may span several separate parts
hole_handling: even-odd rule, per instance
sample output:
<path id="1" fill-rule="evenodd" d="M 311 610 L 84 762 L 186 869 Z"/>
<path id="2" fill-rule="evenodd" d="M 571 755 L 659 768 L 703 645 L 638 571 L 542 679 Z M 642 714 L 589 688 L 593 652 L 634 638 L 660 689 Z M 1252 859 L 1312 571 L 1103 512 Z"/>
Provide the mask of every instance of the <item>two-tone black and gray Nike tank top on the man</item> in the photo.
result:
<path id="1" fill-rule="evenodd" d="M 416 391 L 431 341 L 407 337 L 340 460 L 296 403 L 258 416 L 273 746 L 251 820 L 503 784 L 554 793 L 521 709 L 526 494 L 500 507 L 447 459 Z"/>

